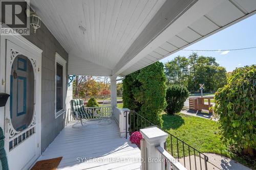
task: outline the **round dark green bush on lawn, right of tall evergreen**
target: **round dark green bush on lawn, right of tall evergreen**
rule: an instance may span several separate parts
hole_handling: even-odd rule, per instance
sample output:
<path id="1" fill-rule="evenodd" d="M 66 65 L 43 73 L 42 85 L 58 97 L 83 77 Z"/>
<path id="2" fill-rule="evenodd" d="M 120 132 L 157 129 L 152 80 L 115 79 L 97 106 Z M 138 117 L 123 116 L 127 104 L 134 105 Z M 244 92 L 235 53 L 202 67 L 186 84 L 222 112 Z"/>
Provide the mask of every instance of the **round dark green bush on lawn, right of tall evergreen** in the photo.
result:
<path id="1" fill-rule="evenodd" d="M 188 98 L 189 92 L 186 87 L 181 85 L 170 85 L 166 90 L 166 103 L 165 108 L 168 114 L 174 114 L 181 111 L 184 102 Z"/>

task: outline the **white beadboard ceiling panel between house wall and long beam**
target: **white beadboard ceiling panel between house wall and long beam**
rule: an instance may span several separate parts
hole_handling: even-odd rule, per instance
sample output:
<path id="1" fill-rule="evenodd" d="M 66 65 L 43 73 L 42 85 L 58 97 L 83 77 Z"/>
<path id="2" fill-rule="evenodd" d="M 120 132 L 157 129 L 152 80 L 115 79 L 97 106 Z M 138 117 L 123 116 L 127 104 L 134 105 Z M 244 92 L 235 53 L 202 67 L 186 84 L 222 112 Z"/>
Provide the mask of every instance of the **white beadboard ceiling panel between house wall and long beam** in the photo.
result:
<path id="1" fill-rule="evenodd" d="M 112 70 L 165 0 L 30 2 L 70 59 L 79 57 Z"/>

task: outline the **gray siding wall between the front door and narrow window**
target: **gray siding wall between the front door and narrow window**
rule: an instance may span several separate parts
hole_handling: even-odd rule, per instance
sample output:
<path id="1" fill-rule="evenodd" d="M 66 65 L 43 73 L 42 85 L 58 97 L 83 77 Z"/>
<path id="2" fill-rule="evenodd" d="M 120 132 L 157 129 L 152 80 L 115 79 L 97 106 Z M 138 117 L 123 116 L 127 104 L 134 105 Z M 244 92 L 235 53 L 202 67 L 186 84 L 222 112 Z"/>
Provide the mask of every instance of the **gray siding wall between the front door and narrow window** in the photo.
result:
<path id="1" fill-rule="evenodd" d="M 44 152 L 65 126 L 65 116 L 61 115 L 55 119 L 55 53 L 57 52 L 67 61 L 66 91 L 68 84 L 68 53 L 44 24 L 36 30 L 36 33 L 33 32 L 32 28 L 30 30 L 30 35 L 24 37 L 43 51 L 41 68 L 41 152 Z"/>

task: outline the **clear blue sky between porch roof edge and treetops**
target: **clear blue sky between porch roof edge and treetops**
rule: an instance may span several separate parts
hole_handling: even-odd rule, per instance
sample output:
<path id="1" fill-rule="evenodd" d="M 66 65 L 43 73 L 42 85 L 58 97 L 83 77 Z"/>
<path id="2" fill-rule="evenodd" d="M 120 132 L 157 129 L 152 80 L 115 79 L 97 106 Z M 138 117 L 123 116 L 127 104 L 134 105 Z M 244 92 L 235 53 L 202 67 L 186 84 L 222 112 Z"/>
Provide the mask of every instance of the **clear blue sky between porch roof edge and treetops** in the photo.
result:
<path id="1" fill-rule="evenodd" d="M 256 46 L 256 14 L 252 15 L 214 35 L 211 35 L 184 49 L 187 50 L 226 50 Z M 176 56 L 188 57 L 192 52 L 179 51 L 162 60 L 165 63 Z M 197 52 L 198 55 L 215 57 L 217 62 L 232 71 L 236 67 L 256 64 L 256 48 L 230 52 Z"/>

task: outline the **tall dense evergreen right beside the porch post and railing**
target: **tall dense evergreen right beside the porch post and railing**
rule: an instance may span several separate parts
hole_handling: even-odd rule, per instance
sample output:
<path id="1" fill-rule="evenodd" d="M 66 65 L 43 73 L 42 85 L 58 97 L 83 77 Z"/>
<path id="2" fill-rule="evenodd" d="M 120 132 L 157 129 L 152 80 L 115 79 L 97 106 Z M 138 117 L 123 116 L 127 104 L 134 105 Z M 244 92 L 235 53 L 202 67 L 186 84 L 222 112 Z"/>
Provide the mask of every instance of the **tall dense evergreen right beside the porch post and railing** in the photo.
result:
<path id="1" fill-rule="evenodd" d="M 166 107 L 165 81 L 163 63 L 160 62 L 127 75 L 123 80 L 123 106 L 162 127 L 161 112 Z"/>

